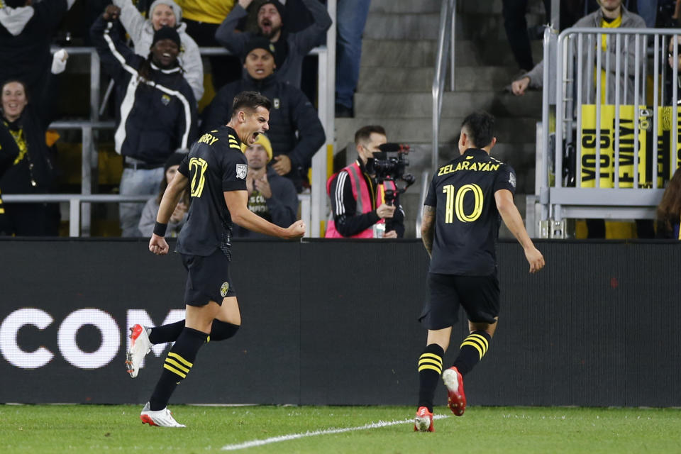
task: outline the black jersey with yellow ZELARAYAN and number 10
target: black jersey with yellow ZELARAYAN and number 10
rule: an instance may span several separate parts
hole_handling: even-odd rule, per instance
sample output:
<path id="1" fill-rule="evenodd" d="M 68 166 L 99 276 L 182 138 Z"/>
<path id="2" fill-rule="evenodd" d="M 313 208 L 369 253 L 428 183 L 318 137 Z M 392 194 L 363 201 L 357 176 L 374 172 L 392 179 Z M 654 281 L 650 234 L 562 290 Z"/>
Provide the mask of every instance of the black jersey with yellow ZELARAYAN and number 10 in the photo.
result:
<path id="1" fill-rule="evenodd" d="M 469 148 L 433 175 L 425 205 L 436 208 L 430 272 L 487 276 L 495 272 L 499 211 L 494 192 L 516 189 L 511 166 Z"/>

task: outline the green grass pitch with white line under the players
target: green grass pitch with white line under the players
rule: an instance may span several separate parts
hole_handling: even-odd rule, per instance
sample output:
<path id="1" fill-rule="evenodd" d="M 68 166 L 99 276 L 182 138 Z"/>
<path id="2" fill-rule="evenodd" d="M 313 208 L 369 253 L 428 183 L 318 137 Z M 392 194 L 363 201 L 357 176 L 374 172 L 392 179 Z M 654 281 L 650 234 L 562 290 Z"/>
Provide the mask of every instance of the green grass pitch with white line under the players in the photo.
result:
<path id="1" fill-rule="evenodd" d="M 406 406 L 170 406 L 156 428 L 138 405 L 0 405 L 0 453 L 679 453 L 681 409 L 436 407 L 414 433 Z M 392 423 L 366 428 L 370 423 Z M 402 422 L 401 422 L 402 421 Z M 330 433 L 329 429 L 349 429 Z M 279 436 L 298 438 L 272 441 Z M 270 441 L 236 450 L 241 443 Z"/>

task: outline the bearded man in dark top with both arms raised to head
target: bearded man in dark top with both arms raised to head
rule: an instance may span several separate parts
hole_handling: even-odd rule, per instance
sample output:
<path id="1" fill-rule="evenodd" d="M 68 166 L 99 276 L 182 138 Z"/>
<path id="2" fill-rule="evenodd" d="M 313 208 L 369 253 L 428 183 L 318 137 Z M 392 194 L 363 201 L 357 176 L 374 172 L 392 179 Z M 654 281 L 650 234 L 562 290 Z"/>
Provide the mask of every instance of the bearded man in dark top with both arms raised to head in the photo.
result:
<path id="1" fill-rule="evenodd" d="M 236 55 L 245 55 L 245 47 L 253 38 L 250 32 L 238 32 L 236 26 L 246 16 L 246 9 L 253 0 L 239 0 L 215 33 L 218 43 Z M 265 1 L 258 9 L 258 35 L 274 45 L 277 74 L 282 82 L 300 87 L 303 57 L 319 45 L 324 33 L 331 27 L 331 17 L 319 0 L 302 0 L 310 11 L 314 23 L 297 33 L 287 33 L 285 10 L 278 0 Z"/>

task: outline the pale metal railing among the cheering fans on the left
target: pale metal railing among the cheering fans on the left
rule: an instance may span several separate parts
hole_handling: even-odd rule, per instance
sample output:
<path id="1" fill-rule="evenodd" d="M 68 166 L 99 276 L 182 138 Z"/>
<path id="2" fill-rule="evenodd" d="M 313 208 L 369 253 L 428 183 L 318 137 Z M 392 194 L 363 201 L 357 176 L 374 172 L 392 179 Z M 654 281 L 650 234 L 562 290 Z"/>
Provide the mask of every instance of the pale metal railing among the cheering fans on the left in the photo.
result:
<path id="1" fill-rule="evenodd" d="M 310 194 L 300 194 L 301 218 L 306 221 L 306 236 L 319 237 L 321 220 L 326 218 L 326 151 L 333 149 L 334 135 L 334 89 L 336 80 L 336 0 L 327 1 L 327 9 L 332 24 L 326 33 L 326 46 L 312 49 L 309 55 L 317 55 L 318 68 L 318 106 L 317 113 L 326 133 L 326 143 L 312 158 L 312 181 Z M 80 129 L 82 131 L 82 166 L 81 166 L 81 194 L 5 194 L 3 200 L 12 203 L 69 202 L 70 213 L 74 213 L 74 204 L 78 205 L 77 218 L 80 225 L 70 222 L 70 235 L 78 228 L 79 235 L 89 236 L 91 225 L 90 203 L 121 203 L 126 201 L 145 201 L 149 196 L 140 196 L 144 200 L 133 200 L 131 196 L 116 194 L 92 194 L 93 170 L 99 163 L 99 155 L 94 143 L 93 130 L 113 129 L 113 121 L 99 121 L 100 102 L 100 60 L 94 48 L 72 47 L 66 48 L 70 55 L 89 55 L 90 57 L 90 102 L 89 119 L 59 120 L 50 124 L 49 128 L 57 130 Z M 201 55 L 229 55 L 224 48 L 199 48 Z M 132 196 L 135 197 L 135 196 Z M 82 206 L 80 206 L 82 204 Z"/>

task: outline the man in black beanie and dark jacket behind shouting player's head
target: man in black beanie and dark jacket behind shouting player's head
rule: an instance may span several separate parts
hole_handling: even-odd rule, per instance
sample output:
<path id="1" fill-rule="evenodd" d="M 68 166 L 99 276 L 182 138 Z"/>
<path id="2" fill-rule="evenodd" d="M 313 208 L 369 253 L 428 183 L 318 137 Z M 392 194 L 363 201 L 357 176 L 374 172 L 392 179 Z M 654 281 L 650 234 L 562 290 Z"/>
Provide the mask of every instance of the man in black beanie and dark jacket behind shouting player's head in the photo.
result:
<path id="1" fill-rule="evenodd" d="M 204 110 L 201 129 L 210 131 L 226 124 L 232 114 L 232 99 L 239 92 L 254 91 L 267 96 L 272 100 L 267 133 L 274 153 L 272 168 L 291 179 L 301 192 L 312 156 L 326 140 L 319 116 L 303 92 L 277 78 L 274 50 L 268 40 L 253 38 L 244 55 L 245 74 L 241 80 L 220 89 Z"/>

